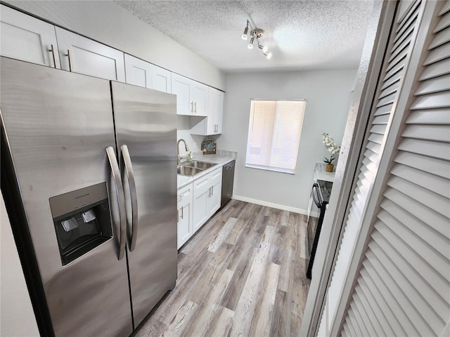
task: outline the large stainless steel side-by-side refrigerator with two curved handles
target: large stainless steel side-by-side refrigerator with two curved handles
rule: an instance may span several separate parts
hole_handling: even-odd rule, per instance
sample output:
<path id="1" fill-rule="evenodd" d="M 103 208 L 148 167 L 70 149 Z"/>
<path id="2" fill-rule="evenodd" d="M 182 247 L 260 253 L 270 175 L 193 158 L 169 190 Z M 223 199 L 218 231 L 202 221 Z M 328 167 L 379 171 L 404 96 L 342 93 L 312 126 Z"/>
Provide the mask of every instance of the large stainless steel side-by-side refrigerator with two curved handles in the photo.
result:
<path id="1" fill-rule="evenodd" d="M 176 96 L 0 67 L 1 188 L 41 334 L 129 336 L 176 282 Z"/>

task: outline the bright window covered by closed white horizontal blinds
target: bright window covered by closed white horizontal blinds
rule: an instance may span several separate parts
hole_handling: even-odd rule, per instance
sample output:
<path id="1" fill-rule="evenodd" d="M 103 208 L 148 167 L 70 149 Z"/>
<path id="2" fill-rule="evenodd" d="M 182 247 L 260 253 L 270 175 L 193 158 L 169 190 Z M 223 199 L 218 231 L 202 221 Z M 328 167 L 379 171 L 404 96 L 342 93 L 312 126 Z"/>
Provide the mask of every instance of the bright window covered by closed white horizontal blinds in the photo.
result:
<path id="1" fill-rule="evenodd" d="M 305 100 L 252 100 L 245 166 L 295 173 Z"/>

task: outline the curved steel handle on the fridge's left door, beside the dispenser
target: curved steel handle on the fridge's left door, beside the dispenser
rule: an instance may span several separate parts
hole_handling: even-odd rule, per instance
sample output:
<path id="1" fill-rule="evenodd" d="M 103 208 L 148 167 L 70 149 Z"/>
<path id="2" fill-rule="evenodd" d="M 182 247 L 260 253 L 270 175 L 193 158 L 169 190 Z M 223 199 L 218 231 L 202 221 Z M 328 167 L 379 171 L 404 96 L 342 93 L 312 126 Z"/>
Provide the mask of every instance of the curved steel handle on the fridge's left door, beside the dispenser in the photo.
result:
<path id="1" fill-rule="evenodd" d="M 127 213 L 125 212 L 125 197 L 124 188 L 122 186 L 122 180 L 120 179 L 119 165 L 117 164 L 117 158 L 115 157 L 114 147 L 106 147 L 106 154 L 108 154 L 108 160 L 110 161 L 111 173 L 113 173 L 115 183 L 115 193 L 117 196 L 117 203 L 119 204 L 119 216 L 120 216 L 120 242 L 119 242 L 119 260 L 124 258 L 125 244 L 127 243 Z"/>

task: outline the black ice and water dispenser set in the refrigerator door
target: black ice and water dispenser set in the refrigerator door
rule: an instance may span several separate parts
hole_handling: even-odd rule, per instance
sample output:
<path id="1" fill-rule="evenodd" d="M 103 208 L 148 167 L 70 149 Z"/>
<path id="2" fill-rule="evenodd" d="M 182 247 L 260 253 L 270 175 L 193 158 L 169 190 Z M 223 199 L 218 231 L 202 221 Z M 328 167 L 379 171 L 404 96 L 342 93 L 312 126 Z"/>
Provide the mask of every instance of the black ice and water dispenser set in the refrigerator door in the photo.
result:
<path id="1" fill-rule="evenodd" d="M 49 201 L 63 265 L 113 237 L 106 183 L 60 194 Z"/>

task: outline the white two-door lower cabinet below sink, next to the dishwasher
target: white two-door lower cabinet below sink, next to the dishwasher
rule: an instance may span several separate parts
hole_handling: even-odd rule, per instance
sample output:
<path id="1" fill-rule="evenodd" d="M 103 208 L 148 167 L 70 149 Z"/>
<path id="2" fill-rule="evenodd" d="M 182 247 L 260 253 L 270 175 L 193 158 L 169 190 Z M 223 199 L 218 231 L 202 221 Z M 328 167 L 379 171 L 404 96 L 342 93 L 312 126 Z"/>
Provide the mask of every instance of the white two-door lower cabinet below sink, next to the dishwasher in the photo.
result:
<path id="1" fill-rule="evenodd" d="M 195 180 L 193 184 L 193 232 L 196 232 L 220 208 L 221 167 Z"/>

